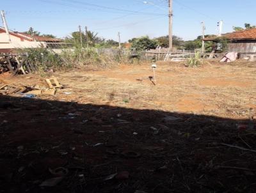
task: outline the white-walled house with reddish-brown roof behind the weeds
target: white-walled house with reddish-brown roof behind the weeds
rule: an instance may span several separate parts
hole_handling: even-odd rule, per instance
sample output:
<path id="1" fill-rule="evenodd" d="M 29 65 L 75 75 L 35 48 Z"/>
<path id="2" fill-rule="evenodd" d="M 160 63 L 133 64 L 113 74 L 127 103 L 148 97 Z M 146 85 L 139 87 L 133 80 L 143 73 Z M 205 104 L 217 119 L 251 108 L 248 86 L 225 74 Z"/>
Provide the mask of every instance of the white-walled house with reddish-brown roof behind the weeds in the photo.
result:
<path id="1" fill-rule="evenodd" d="M 10 31 L 6 33 L 4 27 L 0 27 L 0 52 L 15 52 L 22 48 L 37 47 L 60 47 L 63 40 L 58 38 L 49 38 L 44 36 L 31 36 L 26 33 Z"/>

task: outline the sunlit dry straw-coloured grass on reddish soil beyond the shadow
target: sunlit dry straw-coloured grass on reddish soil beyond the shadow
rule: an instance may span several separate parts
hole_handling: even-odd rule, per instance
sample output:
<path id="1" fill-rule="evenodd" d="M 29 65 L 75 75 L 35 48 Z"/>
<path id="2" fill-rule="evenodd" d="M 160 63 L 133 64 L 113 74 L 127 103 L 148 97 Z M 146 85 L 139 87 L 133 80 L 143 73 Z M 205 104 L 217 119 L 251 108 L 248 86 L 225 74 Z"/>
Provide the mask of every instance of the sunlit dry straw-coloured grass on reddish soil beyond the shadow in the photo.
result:
<path id="1" fill-rule="evenodd" d="M 212 62 L 199 68 L 159 63 L 156 86 L 148 79 L 152 70 L 147 63 L 54 75 L 66 85 L 56 96 L 59 100 L 248 118 L 256 107 L 255 72 L 253 63 L 248 67 L 242 63 Z M 31 79 L 17 79 L 31 82 Z M 67 91 L 72 95 L 62 94 Z"/>

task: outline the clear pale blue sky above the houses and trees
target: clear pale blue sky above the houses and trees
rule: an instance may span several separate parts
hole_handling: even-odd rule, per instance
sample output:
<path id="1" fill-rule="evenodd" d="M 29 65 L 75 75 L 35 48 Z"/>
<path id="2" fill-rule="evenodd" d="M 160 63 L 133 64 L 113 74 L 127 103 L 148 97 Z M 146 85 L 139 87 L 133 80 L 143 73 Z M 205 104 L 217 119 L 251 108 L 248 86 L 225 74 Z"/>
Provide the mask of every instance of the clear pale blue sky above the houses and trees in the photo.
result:
<path id="1" fill-rule="evenodd" d="M 58 37 L 70 35 L 78 26 L 88 26 L 99 36 L 125 42 L 132 37 L 168 34 L 166 0 L 2 0 L 10 29 L 36 31 Z M 206 34 L 217 33 L 217 22 L 223 20 L 223 33 L 245 22 L 256 25 L 255 0 L 173 0 L 173 33 L 184 40 L 201 34 L 204 21 Z M 1 24 L 3 26 L 3 24 Z"/>

